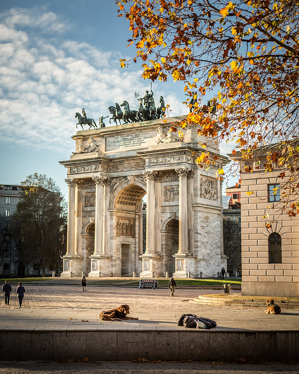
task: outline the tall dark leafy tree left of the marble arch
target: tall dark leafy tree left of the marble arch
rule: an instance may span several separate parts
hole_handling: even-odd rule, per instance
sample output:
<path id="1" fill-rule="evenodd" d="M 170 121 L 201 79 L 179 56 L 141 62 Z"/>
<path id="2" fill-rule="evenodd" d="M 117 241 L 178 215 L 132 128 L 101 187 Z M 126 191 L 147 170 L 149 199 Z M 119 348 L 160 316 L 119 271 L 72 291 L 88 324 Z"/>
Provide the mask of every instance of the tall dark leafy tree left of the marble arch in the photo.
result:
<path id="1" fill-rule="evenodd" d="M 60 256 L 66 251 L 66 206 L 52 178 L 35 173 L 21 185 L 13 216 L 20 269 L 22 272 L 27 264 L 33 264 L 45 276 L 46 268 L 60 270 Z"/>

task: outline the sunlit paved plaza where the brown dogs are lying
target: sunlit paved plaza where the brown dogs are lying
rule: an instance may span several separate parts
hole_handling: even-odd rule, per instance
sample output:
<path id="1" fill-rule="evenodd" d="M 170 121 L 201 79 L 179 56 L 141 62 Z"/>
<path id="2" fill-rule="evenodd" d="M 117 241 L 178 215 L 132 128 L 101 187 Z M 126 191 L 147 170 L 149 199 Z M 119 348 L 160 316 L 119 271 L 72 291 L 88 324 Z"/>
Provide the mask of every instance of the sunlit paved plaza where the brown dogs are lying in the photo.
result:
<path id="1" fill-rule="evenodd" d="M 73 281 L 74 282 L 74 281 Z M 5 306 L 4 296 L 0 305 L 0 330 L 173 330 L 184 329 L 177 325 L 184 313 L 193 313 L 214 319 L 216 330 L 299 330 L 299 310 L 282 309 L 280 315 L 268 315 L 264 308 L 208 306 L 190 303 L 198 295 L 223 293 L 223 290 L 177 289 L 170 297 L 167 288 L 153 290 L 136 287 L 88 286 L 82 291 L 81 280 L 77 285 L 23 284 L 26 293 L 22 308 L 18 308 L 12 285 L 10 306 Z M 232 290 L 237 294 L 240 291 Z M 130 316 L 139 320 L 111 322 L 99 320 L 103 310 L 130 306 Z"/>

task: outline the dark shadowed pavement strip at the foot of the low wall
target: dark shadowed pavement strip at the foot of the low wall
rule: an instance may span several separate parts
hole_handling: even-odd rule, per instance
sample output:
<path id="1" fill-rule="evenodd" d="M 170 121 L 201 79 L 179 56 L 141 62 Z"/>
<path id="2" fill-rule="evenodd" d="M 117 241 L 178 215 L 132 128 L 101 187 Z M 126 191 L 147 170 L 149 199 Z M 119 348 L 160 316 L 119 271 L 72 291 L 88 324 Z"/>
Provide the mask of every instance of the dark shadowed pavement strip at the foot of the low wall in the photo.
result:
<path id="1" fill-rule="evenodd" d="M 262 362 L 42 362 L 0 361 L 0 374 L 297 374 L 299 363 Z"/>

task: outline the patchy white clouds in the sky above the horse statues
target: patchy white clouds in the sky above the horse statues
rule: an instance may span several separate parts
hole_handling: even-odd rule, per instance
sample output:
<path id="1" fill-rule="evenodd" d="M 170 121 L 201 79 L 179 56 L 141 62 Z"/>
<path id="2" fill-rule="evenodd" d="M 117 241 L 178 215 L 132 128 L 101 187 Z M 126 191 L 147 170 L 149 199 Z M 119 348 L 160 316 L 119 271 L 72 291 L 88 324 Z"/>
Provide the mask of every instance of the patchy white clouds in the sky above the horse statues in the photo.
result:
<path id="1" fill-rule="evenodd" d="M 71 152 L 74 114 L 83 107 L 96 123 L 110 115 L 115 102 L 127 100 L 131 109 L 138 108 L 134 92 L 143 96 L 149 84 L 140 79 L 141 71 L 120 69 L 117 52 L 57 38 L 49 42 L 42 32 L 66 29 L 53 13 L 14 9 L 0 14 L 1 20 L 2 144 Z M 174 93 L 157 92 L 156 106 L 160 95 L 171 106 L 170 116 L 186 113 Z"/>

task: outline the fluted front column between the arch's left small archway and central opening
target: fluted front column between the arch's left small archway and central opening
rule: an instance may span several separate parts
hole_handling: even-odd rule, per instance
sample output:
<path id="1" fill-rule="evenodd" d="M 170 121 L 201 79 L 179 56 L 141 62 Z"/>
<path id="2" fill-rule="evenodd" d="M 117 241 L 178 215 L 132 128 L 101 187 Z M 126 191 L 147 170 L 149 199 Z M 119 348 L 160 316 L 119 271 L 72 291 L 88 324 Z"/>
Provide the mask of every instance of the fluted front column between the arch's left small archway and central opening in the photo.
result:
<path id="1" fill-rule="evenodd" d="M 92 178 L 95 183 L 94 253 L 103 250 L 103 178 Z"/>

